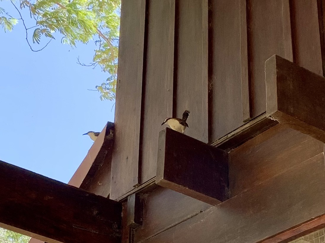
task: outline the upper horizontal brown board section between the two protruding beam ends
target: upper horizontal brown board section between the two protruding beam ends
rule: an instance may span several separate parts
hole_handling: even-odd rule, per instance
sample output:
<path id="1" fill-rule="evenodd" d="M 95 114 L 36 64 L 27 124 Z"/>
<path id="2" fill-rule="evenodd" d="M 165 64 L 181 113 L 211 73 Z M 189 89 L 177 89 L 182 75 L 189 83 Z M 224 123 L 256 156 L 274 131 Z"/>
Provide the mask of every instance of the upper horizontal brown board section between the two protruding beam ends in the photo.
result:
<path id="1" fill-rule="evenodd" d="M 278 124 L 230 152 L 229 197 L 321 152 L 322 142 Z"/>

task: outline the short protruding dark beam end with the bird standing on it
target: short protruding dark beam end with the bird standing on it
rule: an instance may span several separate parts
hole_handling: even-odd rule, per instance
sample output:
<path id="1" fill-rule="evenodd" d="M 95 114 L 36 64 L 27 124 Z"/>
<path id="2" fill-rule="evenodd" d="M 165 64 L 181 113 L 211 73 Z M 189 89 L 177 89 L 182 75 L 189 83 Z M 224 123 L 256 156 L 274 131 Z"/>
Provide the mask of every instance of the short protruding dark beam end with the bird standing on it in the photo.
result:
<path id="1" fill-rule="evenodd" d="M 228 199 L 228 154 L 166 128 L 159 133 L 156 183 L 216 205 Z"/>

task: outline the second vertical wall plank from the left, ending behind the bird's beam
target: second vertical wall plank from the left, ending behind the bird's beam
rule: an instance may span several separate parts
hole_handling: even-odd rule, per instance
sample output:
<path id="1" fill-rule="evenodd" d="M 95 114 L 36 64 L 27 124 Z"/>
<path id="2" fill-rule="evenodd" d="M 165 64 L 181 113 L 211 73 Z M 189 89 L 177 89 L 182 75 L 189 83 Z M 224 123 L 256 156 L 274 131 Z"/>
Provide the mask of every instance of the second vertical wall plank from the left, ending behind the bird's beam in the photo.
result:
<path id="1" fill-rule="evenodd" d="M 175 0 L 148 1 L 140 183 L 156 175 L 158 133 L 173 115 Z"/>

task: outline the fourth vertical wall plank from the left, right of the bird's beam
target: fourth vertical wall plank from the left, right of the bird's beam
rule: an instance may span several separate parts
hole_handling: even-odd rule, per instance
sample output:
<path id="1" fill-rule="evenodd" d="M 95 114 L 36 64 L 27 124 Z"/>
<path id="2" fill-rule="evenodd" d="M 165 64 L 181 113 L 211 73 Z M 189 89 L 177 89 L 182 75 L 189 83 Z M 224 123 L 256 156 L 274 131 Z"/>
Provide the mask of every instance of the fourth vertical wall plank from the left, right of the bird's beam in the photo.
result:
<path id="1" fill-rule="evenodd" d="M 209 92 L 212 93 L 212 98 L 209 110 L 212 142 L 240 127 L 243 124 L 243 112 L 247 113 L 248 110 L 248 114 L 245 114 L 247 120 L 249 98 L 247 26 L 242 26 L 246 19 L 244 23 L 241 17 L 246 15 L 240 16 L 241 0 L 212 0 L 210 4 L 209 55 L 212 56 L 212 63 L 209 71 Z M 243 108 L 242 102 L 245 103 Z"/>

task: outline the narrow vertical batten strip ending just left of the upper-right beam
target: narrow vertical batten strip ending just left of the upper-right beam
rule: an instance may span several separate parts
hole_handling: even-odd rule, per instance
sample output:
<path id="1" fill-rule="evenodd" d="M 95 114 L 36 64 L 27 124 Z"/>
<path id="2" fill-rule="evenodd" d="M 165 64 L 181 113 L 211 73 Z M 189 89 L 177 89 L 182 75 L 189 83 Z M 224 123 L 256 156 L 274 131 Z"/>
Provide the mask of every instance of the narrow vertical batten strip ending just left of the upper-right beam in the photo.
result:
<path id="1" fill-rule="evenodd" d="M 251 119 L 249 103 L 248 50 L 247 50 L 247 14 L 246 0 L 240 0 L 240 80 L 242 121 Z"/>

